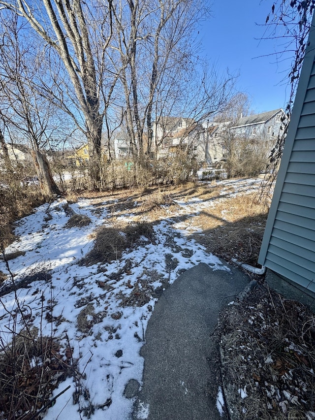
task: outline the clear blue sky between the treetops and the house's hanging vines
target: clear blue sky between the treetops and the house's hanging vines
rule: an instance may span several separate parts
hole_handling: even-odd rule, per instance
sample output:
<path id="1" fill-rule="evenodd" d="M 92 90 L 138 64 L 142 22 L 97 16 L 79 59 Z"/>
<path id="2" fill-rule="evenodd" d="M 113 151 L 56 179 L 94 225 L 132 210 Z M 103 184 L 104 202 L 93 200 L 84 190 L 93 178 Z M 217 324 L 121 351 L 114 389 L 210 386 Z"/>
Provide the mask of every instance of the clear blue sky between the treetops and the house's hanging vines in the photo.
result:
<path id="1" fill-rule="evenodd" d="M 286 76 L 291 61 L 277 63 L 276 56 L 266 57 L 281 51 L 281 46 L 279 40 L 260 40 L 266 28 L 256 25 L 265 23 L 272 4 L 271 0 L 214 0 L 212 17 L 200 29 L 203 55 L 219 71 L 228 67 L 239 73 L 237 89 L 247 93 L 257 113 L 284 108 L 289 95 Z"/>

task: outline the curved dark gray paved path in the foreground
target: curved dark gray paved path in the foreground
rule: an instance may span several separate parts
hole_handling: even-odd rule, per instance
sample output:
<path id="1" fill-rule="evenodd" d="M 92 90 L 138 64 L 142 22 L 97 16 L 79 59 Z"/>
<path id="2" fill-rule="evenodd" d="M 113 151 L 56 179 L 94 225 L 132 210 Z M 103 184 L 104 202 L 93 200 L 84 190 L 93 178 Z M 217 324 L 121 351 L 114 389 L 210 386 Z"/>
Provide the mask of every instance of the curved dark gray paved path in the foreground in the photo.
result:
<path id="1" fill-rule="evenodd" d="M 210 334 L 222 306 L 244 290 L 250 278 L 240 269 L 213 271 L 201 263 L 185 271 L 156 303 L 141 355 L 145 358 L 138 404 L 149 407 L 148 420 L 217 420 L 215 401 L 207 389 Z M 229 297 L 226 297 L 228 296 Z M 207 388 L 208 387 L 208 388 Z"/>

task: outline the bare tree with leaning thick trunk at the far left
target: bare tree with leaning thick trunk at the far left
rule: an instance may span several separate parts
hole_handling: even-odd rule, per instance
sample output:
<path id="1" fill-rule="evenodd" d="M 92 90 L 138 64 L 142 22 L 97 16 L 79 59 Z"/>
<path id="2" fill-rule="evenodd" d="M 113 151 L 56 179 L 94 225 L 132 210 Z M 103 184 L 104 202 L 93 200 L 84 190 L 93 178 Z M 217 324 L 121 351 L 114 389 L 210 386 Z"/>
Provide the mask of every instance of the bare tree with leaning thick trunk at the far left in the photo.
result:
<path id="1" fill-rule="evenodd" d="M 60 194 L 49 162 L 42 151 L 45 140 L 48 138 L 51 104 L 36 94 L 33 85 L 40 67 L 40 57 L 36 55 L 33 45 L 26 44 L 27 41 L 23 46 L 20 44 L 16 18 L 2 22 L 1 30 L 1 118 L 5 124 L 15 128 L 31 143 L 32 158 L 41 190 L 48 195 Z M 25 71 L 25 69 L 28 70 Z M 2 149 L 7 152 L 3 137 L 2 140 Z M 5 155 L 8 158 L 8 154 L 5 153 Z"/>

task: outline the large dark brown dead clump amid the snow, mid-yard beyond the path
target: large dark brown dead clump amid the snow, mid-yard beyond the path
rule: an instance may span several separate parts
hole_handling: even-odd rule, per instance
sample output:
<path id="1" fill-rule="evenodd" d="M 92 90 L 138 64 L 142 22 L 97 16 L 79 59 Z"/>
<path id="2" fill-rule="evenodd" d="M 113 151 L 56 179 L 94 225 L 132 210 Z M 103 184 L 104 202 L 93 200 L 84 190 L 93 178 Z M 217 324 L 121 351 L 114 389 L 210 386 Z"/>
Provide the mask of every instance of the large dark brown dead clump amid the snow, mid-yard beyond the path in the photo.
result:
<path id="1" fill-rule="evenodd" d="M 137 245 L 141 240 L 145 242 L 154 240 L 154 229 L 151 223 L 135 223 L 124 227 L 100 227 L 95 232 L 93 248 L 81 259 L 80 265 L 119 259 L 125 250 Z"/>

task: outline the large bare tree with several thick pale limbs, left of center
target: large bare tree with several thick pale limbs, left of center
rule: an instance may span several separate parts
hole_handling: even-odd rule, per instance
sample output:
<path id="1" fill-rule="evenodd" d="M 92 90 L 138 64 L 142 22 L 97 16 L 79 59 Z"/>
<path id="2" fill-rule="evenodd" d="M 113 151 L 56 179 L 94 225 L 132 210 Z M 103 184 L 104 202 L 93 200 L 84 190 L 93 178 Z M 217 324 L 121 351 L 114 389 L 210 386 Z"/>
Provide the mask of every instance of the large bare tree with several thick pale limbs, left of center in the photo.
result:
<path id="1" fill-rule="evenodd" d="M 107 88 L 104 81 L 105 51 L 112 36 L 112 0 L 43 0 L 33 2 L 0 1 L 2 7 L 26 19 L 32 29 L 57 54 L 63 64 L 63 82 L 68 79 L 77 102 L 77 109 L 70 110 L 67 87 L 56 96 L 63 109 L 78 122 L 81 113 L 89 144 L 91 187 L 98 186 L 101 134 L 107 103 L 102 98 L 111 96 L 114 82 Z M 52 76 L 54 77 L 54 75 Z M 55 80 L 59 82 L 58 79 Z M 70 96 L 71 101 L 71 96 Z"/>

